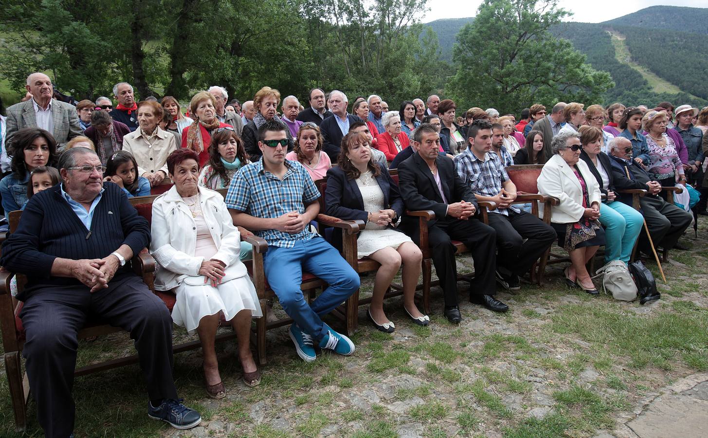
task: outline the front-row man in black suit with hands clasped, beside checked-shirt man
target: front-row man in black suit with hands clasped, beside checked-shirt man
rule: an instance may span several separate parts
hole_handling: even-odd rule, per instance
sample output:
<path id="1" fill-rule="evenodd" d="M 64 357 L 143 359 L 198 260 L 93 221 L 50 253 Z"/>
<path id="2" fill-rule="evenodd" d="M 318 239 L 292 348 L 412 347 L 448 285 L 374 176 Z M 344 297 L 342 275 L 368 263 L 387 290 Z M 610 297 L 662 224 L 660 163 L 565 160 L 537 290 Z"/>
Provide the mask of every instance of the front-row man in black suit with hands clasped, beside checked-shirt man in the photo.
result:
<path id="1" fill-rule="evenodd" d="M 435 219 L 428 222 L 428 241 L 440 287 L 445 295 L 445 317 L 459 323 L 457 306 L 457 263 L 451 239 L 462 241 L 474 258 L 474 282 L 469 301 L 493 311 L 507 311 L 506 304 L 494 298 L 496 285 L 496 231 L 472 217 L 477 211 L 474 192 L 455 172 L 452 160 L 438 156 L 440 135 L 429 123 L 416 129 L 413 154 L 399 165 L 399 189 L 407 209 L 433 210 Z M 420 244 L 418 221 L 404 217 L 401 229 Z"/>

